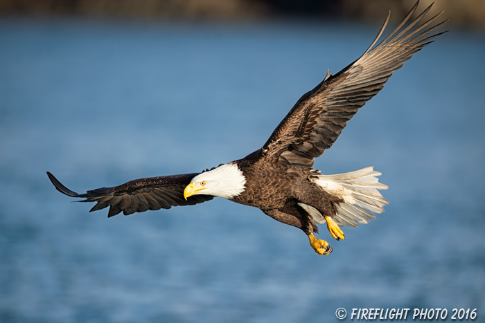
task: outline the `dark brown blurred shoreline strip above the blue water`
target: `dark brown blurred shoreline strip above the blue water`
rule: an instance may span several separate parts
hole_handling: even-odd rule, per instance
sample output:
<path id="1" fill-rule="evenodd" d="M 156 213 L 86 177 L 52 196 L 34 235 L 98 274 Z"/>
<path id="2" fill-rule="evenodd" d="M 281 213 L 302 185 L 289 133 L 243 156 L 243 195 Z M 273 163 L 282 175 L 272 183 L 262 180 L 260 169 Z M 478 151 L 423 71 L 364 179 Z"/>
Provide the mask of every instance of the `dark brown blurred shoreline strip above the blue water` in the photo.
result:
<path id="1" fill-rule="evenodd" d="M 114 17 L 244 21 L 265 19 L 353 19 L 382 21 L 391 10 L 396 22 L 415 0 L 0 0 L 6 17 Z M 421 0 L 419 10 L 432 0 Z M 438 0 L 431 14 L 445 11 L 450 25 L 485 28 L 485 1 Z"/>

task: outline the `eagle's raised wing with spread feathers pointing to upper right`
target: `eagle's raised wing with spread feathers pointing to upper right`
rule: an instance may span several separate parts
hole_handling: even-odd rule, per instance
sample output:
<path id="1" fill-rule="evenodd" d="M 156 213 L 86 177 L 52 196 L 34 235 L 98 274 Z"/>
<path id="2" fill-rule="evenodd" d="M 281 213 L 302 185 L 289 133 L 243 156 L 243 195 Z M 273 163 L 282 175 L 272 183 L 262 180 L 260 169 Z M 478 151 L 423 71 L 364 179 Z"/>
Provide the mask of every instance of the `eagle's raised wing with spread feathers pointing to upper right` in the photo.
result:
<path id="1" fill-rule="evenodd" d="M 391 14 L 389 12 L 376 39 L 364 55 L 337 75 L 332 76 L 328 71 L 325 79 L 315 89 L 304 94 L 263 146 L 263 156 L 279 160 L 283 165 L 312 167 L 313 159 L 332 147 L 347 121 L 382 89 L 392 73 L 401 68 L 414 53 L 430 44 L 431 39 L 442 34 L 426 37 L 446 21 L 425 28 L 443 12 L 412 30 L 431 6 L 403 28 L 418 3 L 396 29 L 373 48 L 387 26 Z M 401 28 L 403 30 L 400 31 Z"/>

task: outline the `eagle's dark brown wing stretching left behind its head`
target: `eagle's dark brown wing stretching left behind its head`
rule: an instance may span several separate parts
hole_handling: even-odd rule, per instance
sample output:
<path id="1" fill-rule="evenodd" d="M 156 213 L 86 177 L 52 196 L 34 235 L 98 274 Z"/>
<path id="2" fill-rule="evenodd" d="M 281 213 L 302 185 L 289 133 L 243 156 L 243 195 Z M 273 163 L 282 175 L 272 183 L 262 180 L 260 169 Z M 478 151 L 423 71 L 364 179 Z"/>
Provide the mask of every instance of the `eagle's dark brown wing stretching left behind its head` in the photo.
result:
<path id="1" fill-rule="evenodd" d="M 115 187 L 103 187 L 78 194 L 62 185 L 53 174 L 47 172 L 55 188 L 67 196 L 85 198 L 80 202 L 97 202 L 89 211 L 109 206 L 108 217 L 121 211 L 128 215 L 146 210 L 170 209 L 178 205 L 194 205 L 213 199 L 210 195 L 195 195 L 184 199 L 184 188 L 200 173 L 139 178 Z"/>

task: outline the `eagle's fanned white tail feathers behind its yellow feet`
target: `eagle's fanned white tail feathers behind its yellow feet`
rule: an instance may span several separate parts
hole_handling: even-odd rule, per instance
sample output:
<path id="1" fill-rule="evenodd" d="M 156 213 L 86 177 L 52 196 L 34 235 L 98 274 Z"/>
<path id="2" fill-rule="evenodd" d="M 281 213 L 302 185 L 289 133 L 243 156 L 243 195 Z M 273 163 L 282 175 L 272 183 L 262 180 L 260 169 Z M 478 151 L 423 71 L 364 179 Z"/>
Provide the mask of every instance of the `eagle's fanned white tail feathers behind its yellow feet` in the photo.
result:
<path id="1" fill-rule="evenodd" d="M 384 205 L 389 201 L 384 199 L 378 190 L 387 190 L 387 185 L 379 183 L 377 176 L 380 172 L 373 170 L 373 166 L 362 168 L 354 172 L 335 175 L 314 175 L 310 178 L 313 183 L 321 186 L 326 192 L 340 197 L 344 202 L 337 206 L 337 214 L 333 220 L 338 225 L 356 227 L 358 223 L 368 223 L 376 219 L 370 212 L 384 212 Z M 324 216 L 310 205 L 299 203 L 315 222 L 324 223 Z M 303 206 L 304 205 L 304 206 Z M 370 212 L 369 212 L 370 211 Z"/>

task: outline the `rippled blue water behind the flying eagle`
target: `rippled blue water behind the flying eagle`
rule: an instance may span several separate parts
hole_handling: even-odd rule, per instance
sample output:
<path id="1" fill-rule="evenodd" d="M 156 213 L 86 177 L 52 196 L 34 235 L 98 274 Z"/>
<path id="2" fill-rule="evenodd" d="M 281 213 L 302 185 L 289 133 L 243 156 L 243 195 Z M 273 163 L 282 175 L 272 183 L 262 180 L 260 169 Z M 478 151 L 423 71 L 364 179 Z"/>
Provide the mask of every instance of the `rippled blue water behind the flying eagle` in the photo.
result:
<path id="1" fill-rule="evenodd" d="M 389 185 L 386 212 L 345 241 L 321 227 L 328 257 L 224 199 L 107 219 L 46 176 L 85 192 L 242 158 L 378 28 L 1 20 L 0 322 L 334 322 L 340 307 L 485 320 L 483 33 L 414 55 L 315 161 L 374 165 Z"/>

